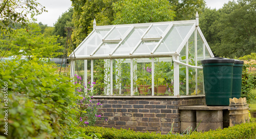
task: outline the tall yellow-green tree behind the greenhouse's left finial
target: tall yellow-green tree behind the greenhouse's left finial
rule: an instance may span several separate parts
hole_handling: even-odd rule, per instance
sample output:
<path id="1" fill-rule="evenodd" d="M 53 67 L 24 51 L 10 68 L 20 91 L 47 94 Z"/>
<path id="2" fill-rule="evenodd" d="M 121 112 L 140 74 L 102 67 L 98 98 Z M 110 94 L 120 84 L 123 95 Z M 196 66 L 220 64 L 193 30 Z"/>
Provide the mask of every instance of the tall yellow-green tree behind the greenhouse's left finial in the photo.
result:
<path id="1" fill-rule="evenodd" d="M 112 4 L 119 0 L 71 0 L 74 7 L 72 40 L 79 45 L 92 31 L 93 20 L 97 25 L 110 25 L 113 18 Z"/>

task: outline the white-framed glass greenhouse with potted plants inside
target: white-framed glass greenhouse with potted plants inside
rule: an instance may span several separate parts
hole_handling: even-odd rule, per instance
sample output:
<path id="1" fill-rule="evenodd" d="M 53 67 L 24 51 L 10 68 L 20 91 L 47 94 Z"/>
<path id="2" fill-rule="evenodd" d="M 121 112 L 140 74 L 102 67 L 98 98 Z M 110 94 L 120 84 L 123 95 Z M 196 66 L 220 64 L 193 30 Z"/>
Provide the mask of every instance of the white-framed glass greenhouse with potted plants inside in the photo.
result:
<path id="1" fill-rule="evenodd" d="M 97 96 L 204 95 L 201 60 L 214 57 L 196 20 L 96 26 L 70 55 Z M 132 88 L 132 89 L 131 89 Z"/>

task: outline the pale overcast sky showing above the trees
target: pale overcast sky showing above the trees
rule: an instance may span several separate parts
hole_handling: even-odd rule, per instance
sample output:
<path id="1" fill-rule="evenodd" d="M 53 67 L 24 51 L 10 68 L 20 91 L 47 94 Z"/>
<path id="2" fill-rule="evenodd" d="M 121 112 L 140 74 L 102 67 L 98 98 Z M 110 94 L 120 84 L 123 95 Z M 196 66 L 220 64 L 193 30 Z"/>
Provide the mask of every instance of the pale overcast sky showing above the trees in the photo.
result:
<path id="1" fill-rule="evenodd" d="M 37 22 L 53 27 L 59 16 L 71 7 L 70 0 L 37 0 L 48 12 L 37 15 Z M 207 7 L 220 9 L 228 0 L 205 0 Z"/>

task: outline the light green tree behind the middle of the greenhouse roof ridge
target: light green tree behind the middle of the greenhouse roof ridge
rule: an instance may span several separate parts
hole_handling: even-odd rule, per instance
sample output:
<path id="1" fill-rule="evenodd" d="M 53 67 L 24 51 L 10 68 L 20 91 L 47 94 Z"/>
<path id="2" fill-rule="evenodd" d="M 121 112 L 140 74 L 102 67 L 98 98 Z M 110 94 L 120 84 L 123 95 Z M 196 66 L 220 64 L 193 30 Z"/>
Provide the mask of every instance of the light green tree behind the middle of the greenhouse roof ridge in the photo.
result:
<path id="1" fill-rule="evenodd" d="M 175 16 L 167 0 L 124 0 L 114 3 L 113 6 L 113 24 L 170 21 Z"/>

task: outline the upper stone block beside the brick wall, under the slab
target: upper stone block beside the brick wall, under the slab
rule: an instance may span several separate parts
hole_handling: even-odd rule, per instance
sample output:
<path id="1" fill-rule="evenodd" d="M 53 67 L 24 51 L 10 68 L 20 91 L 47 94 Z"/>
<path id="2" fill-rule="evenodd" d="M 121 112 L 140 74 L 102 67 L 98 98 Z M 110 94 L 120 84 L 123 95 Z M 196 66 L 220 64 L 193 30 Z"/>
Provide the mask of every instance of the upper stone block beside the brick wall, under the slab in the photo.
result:
<path id="1" fill-rule="evenodd" d="M 196 122 L 197 121 L 196 110 L 181 110 L 180 121 L 181 122 Z"/>

